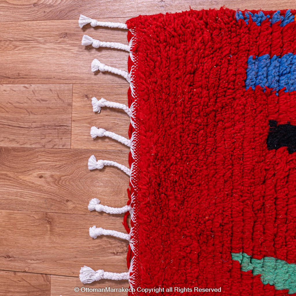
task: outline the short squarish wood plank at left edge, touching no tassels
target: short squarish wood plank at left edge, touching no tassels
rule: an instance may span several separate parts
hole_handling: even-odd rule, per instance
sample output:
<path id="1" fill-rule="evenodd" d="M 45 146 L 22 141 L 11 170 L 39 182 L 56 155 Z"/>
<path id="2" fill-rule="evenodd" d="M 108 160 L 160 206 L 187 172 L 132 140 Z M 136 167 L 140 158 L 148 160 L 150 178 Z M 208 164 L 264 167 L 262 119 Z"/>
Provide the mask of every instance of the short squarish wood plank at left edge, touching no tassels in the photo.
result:
<path id="1" fill-rule="evenodd" d="M 0 85 L 0 146 L 70 148 L 72 85 Z"/>

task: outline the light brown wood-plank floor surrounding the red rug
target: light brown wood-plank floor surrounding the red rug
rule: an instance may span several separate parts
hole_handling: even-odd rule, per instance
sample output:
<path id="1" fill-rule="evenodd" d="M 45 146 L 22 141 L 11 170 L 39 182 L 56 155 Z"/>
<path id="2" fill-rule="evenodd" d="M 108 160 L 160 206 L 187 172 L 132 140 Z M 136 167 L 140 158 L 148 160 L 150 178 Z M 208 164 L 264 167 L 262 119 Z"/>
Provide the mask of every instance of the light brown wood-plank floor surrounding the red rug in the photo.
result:
<path id="1" fill-rule="evenodd" d="M 0 0 L 0 295 L 72 296 L 83 285 L 84 264 L 127 271 L 127 243 L 89 237 L 96 225 L 124 231 L 122 215 L 90 213 L 91 198 L 121 207 L 128 177 L 112 167 L 89 171 L 94 154 L 128 165 L 128 149 L 91 139 L 96 125 L 127 137 L 129 118 L 105 108 L 92 112 L 91 97 L 127 104 L 128 83 L 93 74 L 92 59 L 127 70 L 127 53 L 81 46 L 83 33 L 126 42 L 126 31 L 78 27 L 79 14 L 125 22 L 145 14 L 189 9 L 295 9 L 294 0 Z M 87 287 L 128 287 L 100 281 Z M 101 293 L 126 295 L 126 293 Z"/>

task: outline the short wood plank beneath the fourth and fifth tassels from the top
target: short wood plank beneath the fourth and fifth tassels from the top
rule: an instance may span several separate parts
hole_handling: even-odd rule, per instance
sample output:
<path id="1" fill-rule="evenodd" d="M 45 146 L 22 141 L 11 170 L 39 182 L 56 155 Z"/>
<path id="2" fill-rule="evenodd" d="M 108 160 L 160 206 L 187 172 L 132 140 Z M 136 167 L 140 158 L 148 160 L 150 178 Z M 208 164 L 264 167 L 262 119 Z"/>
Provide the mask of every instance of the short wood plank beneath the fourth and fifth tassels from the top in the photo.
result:
<path id="1" fill-rule="evenodd" d="M 103 108 L 92 111 L 91 98 L 104 97 L 108 101 L 128 104 L 128 84 L 75 84 L 73 85 L 71 148 L 129 150 L 126 145 L 108 137 L 92 139 L 91 126 L 104 128 L 128 138 L 129 116 L 120 109 Z"/>

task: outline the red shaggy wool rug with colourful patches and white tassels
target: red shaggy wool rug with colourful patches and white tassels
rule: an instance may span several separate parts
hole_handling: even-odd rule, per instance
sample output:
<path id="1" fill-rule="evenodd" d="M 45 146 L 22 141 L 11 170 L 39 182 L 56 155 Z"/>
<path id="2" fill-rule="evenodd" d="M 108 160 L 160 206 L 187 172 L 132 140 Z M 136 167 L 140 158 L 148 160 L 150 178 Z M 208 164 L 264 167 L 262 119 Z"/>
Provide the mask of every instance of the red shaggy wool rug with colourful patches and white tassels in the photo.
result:
<path id="1" fill-rule="evenodd" d="M 84 36 L 83 45 L 130 52 L 129 201 L 90 210 L 126 213 L 128 272 L 81 268 L 80 279 L 128 279 L 130 295 L 296 293 L 296 11 L 190 10 L 126 24 L 129 45 Z M 104 61 L 102 61 L 104 62 Z M 99 95 L 99 94 L 98 94 Z M 103 110 L 102 110 L 103 112 Z M 99 115 L 98 115 L 99 116 Z M 96 159 L 96 158 L 97 159 Z M 127 216 L 131 214 L 131 229 Z M 98 221 L 99 223 L 99 221 Z M 296 294 L 295 294 L 296 295 Z"/>

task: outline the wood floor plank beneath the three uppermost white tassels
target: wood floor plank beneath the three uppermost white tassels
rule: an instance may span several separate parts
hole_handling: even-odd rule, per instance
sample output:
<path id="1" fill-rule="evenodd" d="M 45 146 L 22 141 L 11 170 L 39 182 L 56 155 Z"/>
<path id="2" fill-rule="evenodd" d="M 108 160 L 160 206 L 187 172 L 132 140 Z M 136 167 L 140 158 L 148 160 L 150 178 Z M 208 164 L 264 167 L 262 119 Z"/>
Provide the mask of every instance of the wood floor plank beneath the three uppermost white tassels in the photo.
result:
<path id="1" fill-rule="evenodd" d="M 128 53 L 82 46 L 83 34 L 127 44 L 126 30 L 81 29 L 77 20 L 1 23 L 0 83 L 127 83 L 115 74 L 92 73 L 91 62 L 127 70 Z"/>

